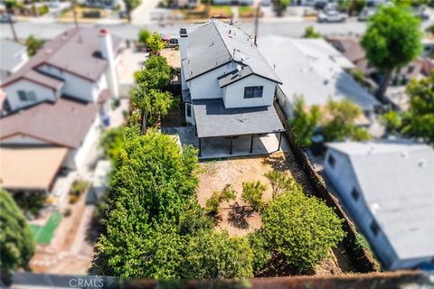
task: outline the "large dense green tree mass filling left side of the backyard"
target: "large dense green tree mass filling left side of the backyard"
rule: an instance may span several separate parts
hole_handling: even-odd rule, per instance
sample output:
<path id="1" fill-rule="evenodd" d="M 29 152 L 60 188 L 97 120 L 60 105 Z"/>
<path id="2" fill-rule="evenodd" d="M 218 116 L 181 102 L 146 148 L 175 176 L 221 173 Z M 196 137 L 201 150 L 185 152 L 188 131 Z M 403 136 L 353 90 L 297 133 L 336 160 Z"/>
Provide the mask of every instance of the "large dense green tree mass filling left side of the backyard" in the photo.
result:
<path id="1" fill-rule="evenodd" d="M 197 156 L 170 135 L 127 135 L 110 181 L 91 273 L 140 278 L 252 276 L 249 244 L 212 231 L 195 198 Z"/>

